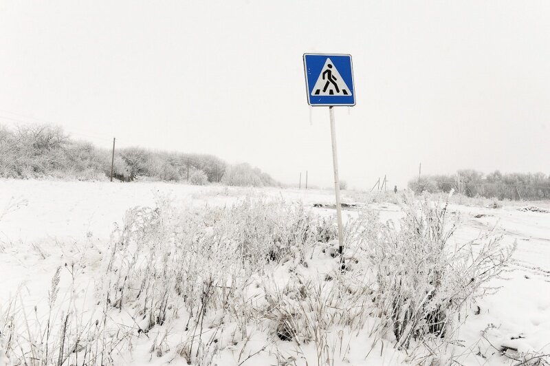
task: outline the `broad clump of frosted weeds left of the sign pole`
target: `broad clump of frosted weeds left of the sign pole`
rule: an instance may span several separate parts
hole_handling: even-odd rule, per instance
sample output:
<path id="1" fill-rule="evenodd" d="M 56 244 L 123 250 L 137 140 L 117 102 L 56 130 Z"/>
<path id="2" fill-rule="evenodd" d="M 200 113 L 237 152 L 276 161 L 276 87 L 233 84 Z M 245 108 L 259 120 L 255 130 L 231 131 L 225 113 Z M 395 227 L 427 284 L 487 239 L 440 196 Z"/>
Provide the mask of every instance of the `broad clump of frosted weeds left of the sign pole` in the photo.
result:
<path id="1" fill-rule="evenodd" d="M 303 258 L 316 241 L 333 239 L 327 226 L 283 202 L 244 200 L 196 212 L 166 201 L 133 208 L 113 235 L 99 290 L 111 307 L 131 309 L 140 332 L 182 315 L 223 319 L 268 263 Z"/>

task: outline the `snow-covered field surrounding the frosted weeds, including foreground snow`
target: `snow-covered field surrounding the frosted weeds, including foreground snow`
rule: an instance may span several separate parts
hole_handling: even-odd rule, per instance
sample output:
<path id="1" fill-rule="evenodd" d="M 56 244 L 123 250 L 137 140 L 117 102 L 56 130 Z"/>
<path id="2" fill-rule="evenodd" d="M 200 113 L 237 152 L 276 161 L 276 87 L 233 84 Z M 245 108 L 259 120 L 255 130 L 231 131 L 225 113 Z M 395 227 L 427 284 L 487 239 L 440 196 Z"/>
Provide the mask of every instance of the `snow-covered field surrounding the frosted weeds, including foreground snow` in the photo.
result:
<path id="1" fill-rule="evenodd" d="M 397 222 L 403 212 L 392 196 L 344 193 L 345 203 L 358 205 L 344 210 L 344 219 L 348 221 L 357 217 L 361 208 L 377 213 L 381 222 Z M 550 354 L 550 213 L 520 211 L 518 208 L 521 206 L 517 203 L 503 204 L 500 208 L 450 204 L 449 212 L 461 217 L 461 226 L 452 237 L 452 244 L 463 244 L 494 230 L 494 233 L 503 235 L 503 246 L 516 241 L 517 247 L 505 278 L 492 279 L 490 283 L 491 287 L 500 287 L 498 292 L 468 303 L 461 313 L 461 326 L 454 334 L 454 345 L 446 345 L 444 352 L 432 352 L 429 357 L 411 356 L 412 352 L 394 347 L 395 341 L 391 336 L 377 336 L 376 320 L 369 316 L 358 316 L 358 319 L 365 319 L 359 326 L 354 325 L 351 318 L 349 330 L 341 323 L 335 323 L 327 328 L 328 332 L 317 334 L 313 330 L 309 341 L 298 341 L 298 338 L 285 340 L 275 336 L 279 331 L 274 317 L 269 314 L 261 318 L 259 313 L 247 313 L 254 321 L 240 325 L 238 319 L 241 318 L 235 314 L 241 310 L 242 314 L 248 312 L 243 309 L 232 308 L 228 312 L 233 317 L 222 316 L 221 319 L 217 319 L 217 315 L 201 317 L 200 314 L 193 314 L 192 310 L 181 309 L 172 321 L 156 321 L 156 325 L 147 327 L 132 312 L 137 305 L 122 305 L 122 300 L 120 305 L 111 304 L 111 308 L 104 305 L 102 288 L 114 278 L 114 272 L 106 275 L 110 266 L 107 263 L 109 250 L 118 250 L 112 244 L 121 240 L 120 229 L 125 224 L 126 210 L 134 206 L 154 208 L 163 200 L 172 202 L 177 210 L 183 212 L 222 210 L 245 200 L 245 197 L 262 202 L 282 201 L 284 204 L 301 202 L 305 211 L 317 213 L 320 217 L 330 218 L 334 214 L 326 206 L 314 207 L 314 204 L 333 202 L 331 191 L 244 189 L 159 182 L 122 184 L 0 180 L 0 366 L 17 364 L 14 357 L 10 359 L 4 355 L 6 347 L 17 349 L 19 354 L 27 354 L 30 360 L 39 358 L 37 354 L 40 352 L 43 357 L 44 347 L 39 347 L 38 343 L 44 343 L 50 328 L 54 329 L 52 334 L 62 332 L 55 328 L 60 324 L 67 328 L 69 314 L 80 319 L 80 323 L 71 323 L 71 329 L 83 330 L 83 334 L 85 329 L 87 337 L 90 337 L 93 333 L 91 325 L 95 321 L 94 326 L 98 327 L 98 319 L 103 319 L 107 324 L 105 327 L 110 327 L 107 332 L 109 336 L 120 341 L 109 343 L 103 336 L 101 345 L 109 344 L 109 356 L 104 352 L 104 359 L 99 360 L 96 353 L 93 360 L 88 355 L 88 361 L 85 361 L 85 354 L 91 353 L 94 347 L 85 344 L 85 337 L 80 340 L 83 345 L 79 347 L 77 342 L 74 349 L 67 348 L 63 352 L 59 352 L 57 341 L 51 341 L 52 345 L 56 345 L 56 357 L 60 361 L 57 363 L 56 359 L 56 364 L 59 365 L 186 365 L 188 361 L 219 366 L 437 365 L 436 360 L 441 365 L 548 364 L 549 358 L 544 355 Z M 384 202 L 384 197 L 389 197 L 392 202 Z M 536 205 L 549 208 L 547 203 Z M 154 212 L 151 211 L 152 215 Z M 115 232 L 117 227 L 119 230 Z M 309 266 L 304 266 L 300 279 L 315 282 L 318 277 L 328 278 L 327 274 L 338 263 L 327 255 L 329 244 L 325 249 L 312 249 L 311 253 L 307 253 Z M 219 252 L 218 255 L 225 253 Z M 129 259 L 122 258 L 120 261 Z M 289 272 L 297 271 L 296 268 L 289 270 L 289 266 L 294 266 L 292 259 L 281 261 L 277 266 L 271 264 L 250 277 L 258 293 L 252 294 L 254 286 L 250 284 L 252 290 L 246 293 L 247 299 L 243 304 L 250 303 L 251 308 L 259 306 L 252 299 L 255 296 L 267 297 L 260 291 L 266 282 L 271 281 L 271 286 L 288 288 L 294 279 L 289 277 Z M 199 270 L 209 272 L 208 268 Z M 263 276 L 270 280 L 263 279 Z M 228 283 L 225 285 L 231 287 Z M 223 287 L 219 283 L 217 286 Z M 206 293 L 206 290 L 202 291 Z M 323 291 L 325 288 L 320 287 L 320 298 L 324 296 Z M 241 294 L 232 296 L 239 297 Z M 245 294 L 241 297 L 244 298 Z M 55 304 L 50 306 L 53 302 Z M 172 306 L 177 306 L 177 303 L 165 305 L 164 311 L 168 308 L 176 314 Z M 320 313 L 321 310 L 311 312 Z M 203 313 L 201 308 L 201 314 L 206 314 L 206 309 Z M 208 314 L 216 314 L 216 310 L 209 310 Z M 65 323 L 60 323 L 59 319 L 65 319 Z M 237 320 L 225 324 L 223 319 Z M 47 327 L 50 323 L 55 327 Z M 41 341 L 34 341 L 36 344 L 25 349 L 7 339 L 6 334 L 19 334 L 21 339 L 34 337 Z M 190 342 L 194 343 L 189 345 Z M 98 341 L 94 344 L 98 347 Z M 63 347 L 69 346 L 62 345 L 61 349 Z M 417 347 L 423 349 L 418 354 L 430 353 L 426 352 L 429 345 Z M 58 353 L 68 356 L 57 356 Z M 76 359 L 78 354 L 80 359 Z"/>

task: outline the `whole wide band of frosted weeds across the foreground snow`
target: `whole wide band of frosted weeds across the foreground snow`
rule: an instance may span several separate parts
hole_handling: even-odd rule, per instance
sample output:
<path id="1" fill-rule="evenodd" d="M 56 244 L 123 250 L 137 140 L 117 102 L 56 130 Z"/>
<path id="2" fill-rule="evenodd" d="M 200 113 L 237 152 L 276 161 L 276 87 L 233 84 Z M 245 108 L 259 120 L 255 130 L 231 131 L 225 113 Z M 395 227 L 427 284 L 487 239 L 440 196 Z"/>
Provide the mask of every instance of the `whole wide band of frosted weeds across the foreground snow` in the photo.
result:
<path id="1" fill-rule="evenodd" d="M 132 208 L 104 251 L 96 307 L 60 301 L 58 270 L 47 312 L 32 319 L 23 297 L 1 309 L 0 360 L 115 365 L 140 344 L 150 359 L 189 365 L 228 354 L 237 365 L 335 365 L 353 363 L 353 347 L 362 362 L 389 344 L 398 359 L 430 363 L 456 341 L 465 305 L 494 290 L 514 248 L 493 233 L 454 243 L 447 202 L 405 195 L 401 204 L 399 222 L 364 211 L 347 224 L 343 267 L 333 218 L 300 204 Z M 65 288 L 76 291 L 68 272 Z"/>

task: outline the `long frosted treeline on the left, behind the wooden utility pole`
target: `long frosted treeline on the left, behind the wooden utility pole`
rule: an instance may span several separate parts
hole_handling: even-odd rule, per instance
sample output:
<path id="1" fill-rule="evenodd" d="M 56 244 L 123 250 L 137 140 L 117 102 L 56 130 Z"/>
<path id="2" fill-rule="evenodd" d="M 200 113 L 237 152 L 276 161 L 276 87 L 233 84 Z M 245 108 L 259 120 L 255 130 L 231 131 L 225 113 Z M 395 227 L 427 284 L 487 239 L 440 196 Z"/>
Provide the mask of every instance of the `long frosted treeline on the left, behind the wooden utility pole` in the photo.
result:
<path id="1" fill-rule="evenodd" d="M 105 180 L 111 174 L 110 149 L 73 140 L 61 127 L 0 125 L 0 177 Z M 116 179 L 222 182 L 239 186 L 276 186 L 270 175 L 249 164 L 230 165 L 214 155 L 153 151 L 141 147 L 115 149 Z"/>

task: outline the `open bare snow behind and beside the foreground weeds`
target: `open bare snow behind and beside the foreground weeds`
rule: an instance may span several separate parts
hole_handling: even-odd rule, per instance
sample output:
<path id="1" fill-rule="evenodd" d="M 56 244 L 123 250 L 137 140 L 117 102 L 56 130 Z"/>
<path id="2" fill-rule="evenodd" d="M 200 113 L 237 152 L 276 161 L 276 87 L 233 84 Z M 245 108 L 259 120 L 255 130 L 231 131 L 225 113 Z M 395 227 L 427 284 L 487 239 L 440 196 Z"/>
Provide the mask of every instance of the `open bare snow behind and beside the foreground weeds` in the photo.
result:
<path id="1" fill-rule="evenodd" d="M 301 201 L 308 207 L 333 202 L 331 191 L 322 190 L 244 189 L 160 182 L 0 180 L 0 315 L 16 296 L 29 309 L 45 303 L 56 268 L 61 266 L 70 271 L 75 261 L 85 263 L 79 279 L 81 302 L 92 306 L 94 286 L 102 275 L 97 270 L 102 249 L 109 243 L 115 223 L 122 225 L 128 208 L 152 206 L 157 197 L 171 197 L 179 207 L 200 208 L 232 204 L 245 196 L 282 197 L 287 202 Z M 344 202 L 365 204 L 380 213 L 383 221 L 399 219 L 402 215 L 396 204 L 362 202 L 362 197 L 344 193 Z M 330 208 L 313 209 L 322 215 L 333 215 Z M 454 235 L 457 243 L 472 240 L 492 228 L 503 234 L 504 244 L 517 242 L 507 279 L 492 283 L 502 288 L 478 301 L 479 308 L 470 309 L 463 319 L 459 338 L 463 341 L 464 356 L 457 360 L 463 365 L 508 365 L 511 359 L 501 354 L 503 350 L 512 357 L 514 352 L 550 354 L 550 213 L 524 212 L 519 211 L 518 206 L 506 205 L 485 208 L 452 204 L 450 210 L 459 213 L 463 221 Z M 344 210 L 344 218 L 357 212 Z M 64 288 L 69 287 L 66 284 L 63 287 L 63 281 L 61 285 L 59 296 L 63 297 Z M 261 340 L 256 341 L 261 344 Z M 376 352 L 383 356 L 369 358 L 368 364 L 395 365 L 405 359 L 388 353 L 387 349 L 382 351 L 379 347 Z M 135 354 L 140 353 L 147 352 L 137 347 Z M 150 357 L 132 359 L 125 362 L 146 364 Z M 251 357 L 243 365 L 263 365 L 261 359 Z M 153 358 L 151 362 L 164 364 L 168 360 Z M 298 365 L 305 364 L 300 362 L 296 360 Z M 360 360 L 349 362 L 362 364 Z M 317 364 L 317 360 L 309 360 L 311 364 Z M 228 359 L 227 365 L 240 363 Z"/>

